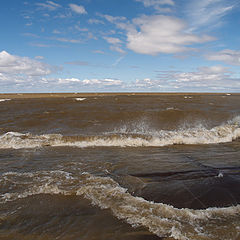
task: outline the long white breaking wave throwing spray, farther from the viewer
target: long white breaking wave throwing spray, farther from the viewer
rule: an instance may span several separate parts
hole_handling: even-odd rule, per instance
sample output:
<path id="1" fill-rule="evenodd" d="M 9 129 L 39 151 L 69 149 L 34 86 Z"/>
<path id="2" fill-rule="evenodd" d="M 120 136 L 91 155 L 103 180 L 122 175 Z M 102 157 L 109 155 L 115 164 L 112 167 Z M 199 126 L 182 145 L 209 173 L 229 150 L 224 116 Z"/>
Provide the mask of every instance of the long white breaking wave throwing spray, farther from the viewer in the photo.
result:
<path id="1" fill-rule="evenodd" d="M 161 147 L 175 144 L 215 144 L 240 137 L 240 116 L 211 129 L 199 126 L 180 130 L 153 131 L 145 128 L 121 128 L 98 136 L 33 135 L 7 132 L 0 136 L 0 148 L 72 147 Z"/>

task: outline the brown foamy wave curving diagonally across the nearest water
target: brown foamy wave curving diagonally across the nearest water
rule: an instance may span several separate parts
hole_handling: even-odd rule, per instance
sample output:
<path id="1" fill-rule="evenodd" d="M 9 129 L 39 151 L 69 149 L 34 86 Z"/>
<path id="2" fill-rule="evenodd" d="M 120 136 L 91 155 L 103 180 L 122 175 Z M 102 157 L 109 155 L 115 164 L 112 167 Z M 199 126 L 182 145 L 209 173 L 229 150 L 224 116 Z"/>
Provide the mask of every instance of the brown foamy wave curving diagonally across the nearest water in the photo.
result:
<path id="1" fill-rule="evenodd" d="M 110 209 L 115 217 L 133 227 L 144 226 L 160 237 L 235 240 L 239 232 L 240 205 L 205 210 L 177 209 L 134 197 L 110 177 L 89 173 L 75 176 L 65 171 L 9 172 L 0 179 L 1 185 L 8 183 L 12 185 L 11 192 L 0 195 L 1 204 L 37 194 L 79 195 L 101 209 Z M 231 221 L 226 221 L 229 218 Z"/>

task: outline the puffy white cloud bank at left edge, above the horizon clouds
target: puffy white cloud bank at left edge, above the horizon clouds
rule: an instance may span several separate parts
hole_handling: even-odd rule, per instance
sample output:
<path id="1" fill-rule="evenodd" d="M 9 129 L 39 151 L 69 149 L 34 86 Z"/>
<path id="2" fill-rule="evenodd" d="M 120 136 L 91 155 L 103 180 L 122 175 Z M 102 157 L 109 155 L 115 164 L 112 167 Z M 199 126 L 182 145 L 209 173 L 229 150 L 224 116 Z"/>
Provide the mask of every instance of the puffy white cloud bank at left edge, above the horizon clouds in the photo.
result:
<path id="1" fill-rule="evenodd" d="M 51 67 L 42 62 L 28 57 L 14 56 L 6 51 L 0 52 L 0 73 L 42 76 L 48 75 L 51 72 Z"/>

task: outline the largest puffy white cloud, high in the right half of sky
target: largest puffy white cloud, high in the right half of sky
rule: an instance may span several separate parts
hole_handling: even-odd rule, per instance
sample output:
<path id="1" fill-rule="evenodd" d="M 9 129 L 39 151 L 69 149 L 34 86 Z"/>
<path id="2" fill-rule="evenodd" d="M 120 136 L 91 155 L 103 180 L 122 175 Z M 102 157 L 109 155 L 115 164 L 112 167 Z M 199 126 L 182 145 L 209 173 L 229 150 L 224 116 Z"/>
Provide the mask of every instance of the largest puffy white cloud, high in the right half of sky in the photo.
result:
<path id="1" fill-rule="evenodd" d="M 179 53 L 188 50 L 187 45 L 214 40 L 211 36 L 186 33 L 185 23 L 170 16 L 142 16 L 133 24 L 135 29 L 127 32 L 127 47 L 142 54 Z"/>

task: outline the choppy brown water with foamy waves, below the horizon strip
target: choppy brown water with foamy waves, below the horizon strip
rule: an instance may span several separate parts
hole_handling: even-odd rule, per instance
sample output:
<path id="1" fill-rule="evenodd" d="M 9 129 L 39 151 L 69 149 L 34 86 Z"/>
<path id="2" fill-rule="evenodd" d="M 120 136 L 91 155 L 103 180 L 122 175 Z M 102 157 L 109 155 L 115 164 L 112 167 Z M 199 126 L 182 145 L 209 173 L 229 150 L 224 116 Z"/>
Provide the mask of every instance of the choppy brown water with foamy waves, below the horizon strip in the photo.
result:
<path id="1" fill-rule="evenodd" d="M 0 239 L 239 240 L 240 95 L 0 100 Z"/>

